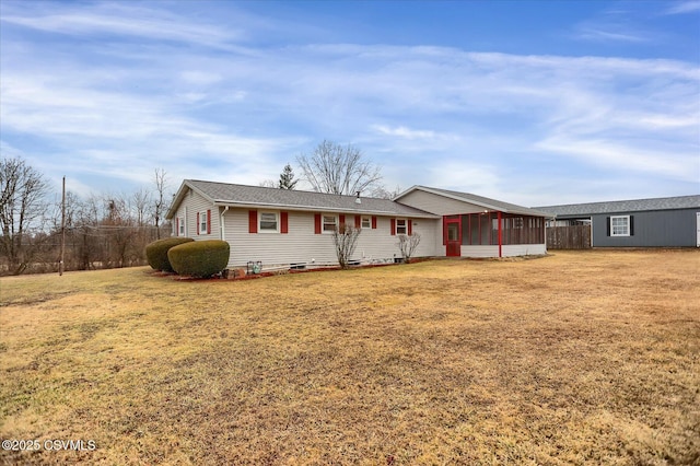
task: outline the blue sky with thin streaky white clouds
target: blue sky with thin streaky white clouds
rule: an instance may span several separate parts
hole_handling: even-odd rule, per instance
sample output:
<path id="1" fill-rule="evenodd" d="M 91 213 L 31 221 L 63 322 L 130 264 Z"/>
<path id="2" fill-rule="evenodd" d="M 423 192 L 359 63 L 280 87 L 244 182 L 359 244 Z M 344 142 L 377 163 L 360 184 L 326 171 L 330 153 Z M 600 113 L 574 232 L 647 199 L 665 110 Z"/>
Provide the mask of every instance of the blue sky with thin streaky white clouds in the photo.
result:
<path id="1" fill-rule="evenodd" d="M 0 0 L 0 150 L 57 191 L 155 168 L 257 185 L 329 139 L 392 189 L 700 193 L 700 1 Z"/>

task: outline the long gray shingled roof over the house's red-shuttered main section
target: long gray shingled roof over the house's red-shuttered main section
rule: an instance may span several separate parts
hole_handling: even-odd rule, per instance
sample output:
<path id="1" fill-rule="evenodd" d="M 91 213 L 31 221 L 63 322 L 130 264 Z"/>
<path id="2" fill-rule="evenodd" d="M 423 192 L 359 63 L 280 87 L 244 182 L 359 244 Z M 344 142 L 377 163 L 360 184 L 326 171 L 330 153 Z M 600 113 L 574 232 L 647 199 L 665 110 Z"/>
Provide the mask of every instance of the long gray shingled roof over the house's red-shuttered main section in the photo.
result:
<path id="1" fill-rule="evenodd" d="M 420 209 L 405 206 L 389 199 L 332 195 L 325 193 L 267 188 L 261 186 L 235 185 L 229 183 L 185 179 L 178 190 L 167 218 L 175 214 L 187 188 L 221 206 L 267 207 L 290 210 L 320 210 L 327 212 L 357 212 L 413 218 L 439 218 Z"/>

